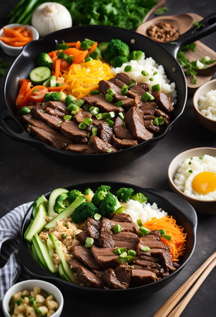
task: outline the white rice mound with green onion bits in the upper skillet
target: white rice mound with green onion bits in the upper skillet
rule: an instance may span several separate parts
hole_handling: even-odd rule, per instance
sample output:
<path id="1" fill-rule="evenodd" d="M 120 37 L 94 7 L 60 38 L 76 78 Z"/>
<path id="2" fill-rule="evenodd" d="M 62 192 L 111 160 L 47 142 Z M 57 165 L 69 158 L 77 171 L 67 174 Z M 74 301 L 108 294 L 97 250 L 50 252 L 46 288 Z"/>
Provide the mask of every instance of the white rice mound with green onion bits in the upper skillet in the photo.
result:
<path id="1" fill-rule="evenodd" d="M 124 71 L 124 68 L 127 65 L 130 65 L 132 67 L 131 72 Z M 145 70 L 148 73 L 148 76 L 143 76 L 141 74 L 142 70 Z M 159 84 L 161 91 L 171 97 L 172 105 L 174 105 L 177 101 L 177 91 L 175 90 L 175 83 L 170 83 L 170 80 L 167 78 L 162 65 L 157 64 L 152 57 L 145 58 L 144 53 L 138 61 L 131 60 L 127 63 L 124 63 L 121 67 L 112 68 L 112 71 L 115 75 L 117 73 L 125 73 L 138 82 L 147 82 L 150 88 L 153 85 Z M 157 72 L 157 74 L 153 75 L 154 72 Z M 154 80 L 150 81 L 150 78 L 153 78 Z"/>

